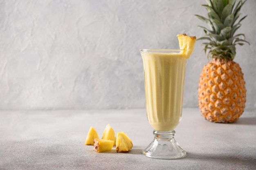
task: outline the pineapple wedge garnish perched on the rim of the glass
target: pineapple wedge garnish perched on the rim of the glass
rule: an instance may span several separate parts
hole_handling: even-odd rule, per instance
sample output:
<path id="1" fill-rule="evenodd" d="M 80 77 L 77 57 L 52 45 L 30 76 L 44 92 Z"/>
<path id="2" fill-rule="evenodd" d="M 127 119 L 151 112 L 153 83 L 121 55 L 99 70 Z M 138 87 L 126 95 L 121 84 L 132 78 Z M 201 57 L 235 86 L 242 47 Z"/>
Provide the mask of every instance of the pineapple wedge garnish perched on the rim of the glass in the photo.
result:
<path id="1" fill-rule="evenodd" d="M 194 51 L 196 37 L 189 37 L 185 33 L 178 34 L 177 37 L 179 40 L 180 49 L 183 50 L 182 53 L 185 55 L 186 59 L 188 59 Z"/>

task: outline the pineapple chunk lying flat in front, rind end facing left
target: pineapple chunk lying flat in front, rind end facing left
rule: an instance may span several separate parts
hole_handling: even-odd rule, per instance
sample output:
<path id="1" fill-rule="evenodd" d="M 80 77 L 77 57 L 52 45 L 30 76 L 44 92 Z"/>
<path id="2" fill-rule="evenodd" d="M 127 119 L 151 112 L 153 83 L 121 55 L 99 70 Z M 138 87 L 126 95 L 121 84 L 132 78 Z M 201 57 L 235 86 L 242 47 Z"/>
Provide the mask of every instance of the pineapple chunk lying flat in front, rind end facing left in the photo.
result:
<path id="1" fill-rule="evenodd" d="M 107 139 L 94 139 L 94 148 L 96 152 L 105 152 L 113 148 L 114 141 Z"/>

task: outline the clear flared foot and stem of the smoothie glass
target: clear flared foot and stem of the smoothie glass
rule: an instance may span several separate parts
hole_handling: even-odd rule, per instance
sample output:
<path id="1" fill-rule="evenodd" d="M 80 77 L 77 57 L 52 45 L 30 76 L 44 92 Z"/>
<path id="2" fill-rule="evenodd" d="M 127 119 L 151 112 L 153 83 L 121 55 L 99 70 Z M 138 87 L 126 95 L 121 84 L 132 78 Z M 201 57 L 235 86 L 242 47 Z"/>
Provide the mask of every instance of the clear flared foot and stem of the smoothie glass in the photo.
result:
<path id="1" fill-rule="evenodd" d="M 142 150 L 146 157 L 156 159 L 179 159 L 186 157 L 186 151 L 175 141 L 175 130 L 154 130 L 155 139 Z"/>

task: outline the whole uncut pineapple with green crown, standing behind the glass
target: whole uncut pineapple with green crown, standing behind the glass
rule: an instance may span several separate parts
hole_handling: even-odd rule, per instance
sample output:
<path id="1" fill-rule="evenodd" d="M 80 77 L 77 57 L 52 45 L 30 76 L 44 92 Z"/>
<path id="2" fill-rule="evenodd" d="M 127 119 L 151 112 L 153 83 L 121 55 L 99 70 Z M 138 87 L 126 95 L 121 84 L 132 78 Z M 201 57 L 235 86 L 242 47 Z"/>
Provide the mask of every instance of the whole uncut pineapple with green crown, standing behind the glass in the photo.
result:
<path id="1" fill-rule="evenodd" d="M 205 36 L 204 51 L 212 60 L 204 66 L 198 87 L 199 108 L 205 119 L 213 122 L 231 123 L 242 115 L 246 102 L 245 81 L 238 63 L 234 62 L 236 45 L 248 43 L 244 34 L 235 32 L 241 26 L 238 20 L 242 0 L 207 0 L 202 5 L 208 11 L 208 18 L 196 15 L 211 29 L 200 26 Z"/>

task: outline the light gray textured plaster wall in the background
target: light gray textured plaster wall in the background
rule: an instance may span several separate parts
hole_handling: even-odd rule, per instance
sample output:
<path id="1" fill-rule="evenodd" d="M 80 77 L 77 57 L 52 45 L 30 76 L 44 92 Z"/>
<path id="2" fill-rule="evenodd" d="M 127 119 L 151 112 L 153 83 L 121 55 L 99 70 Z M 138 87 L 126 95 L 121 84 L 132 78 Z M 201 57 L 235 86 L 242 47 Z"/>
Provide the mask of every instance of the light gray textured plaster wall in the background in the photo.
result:
<path id="1" fill-rule="evenodd" d="M 178 48 L 176 35 L 198 38 L 204 0 L 0 0 L 0 109 L 144 108 L 141 48 Z M 256 1 L 239 32 L 246 108 L 256 108 Z M 184 107 L 197 107 L 208 62 L 201 42 L 187 61 Z"/>

